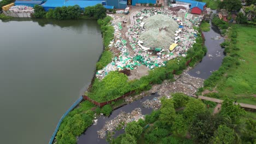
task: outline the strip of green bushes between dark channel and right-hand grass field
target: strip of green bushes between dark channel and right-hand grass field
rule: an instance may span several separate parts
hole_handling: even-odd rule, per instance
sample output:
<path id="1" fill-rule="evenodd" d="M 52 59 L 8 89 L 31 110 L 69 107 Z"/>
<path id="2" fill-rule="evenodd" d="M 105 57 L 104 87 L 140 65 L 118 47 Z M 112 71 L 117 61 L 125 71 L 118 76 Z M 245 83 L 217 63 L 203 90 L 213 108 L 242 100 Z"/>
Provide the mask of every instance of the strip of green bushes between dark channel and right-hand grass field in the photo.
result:
<path id="1" fill-rule="evenodd" d="M 206 88 L 215 87 L 217 82 L 222 79 L 223 74 L 225 74 L 227 70 L 240 65 L 238 60 L 239 55 L 237 54 L 237 50 L 239 49 L 236 47 L 237 32 L 235 26 L 232 26 L 229 29 L 228 37 L 229 39 L 226 39 L 222 44 L 220 44 L 221 46 L 225 47 L 224 52 L 226 56 L 224 57 L 219 70 L 214 71 L 212 75 L 203 82 L 203 85 Z M 234 43 L 231 43 L 231 41 L 234 41 Z"/>

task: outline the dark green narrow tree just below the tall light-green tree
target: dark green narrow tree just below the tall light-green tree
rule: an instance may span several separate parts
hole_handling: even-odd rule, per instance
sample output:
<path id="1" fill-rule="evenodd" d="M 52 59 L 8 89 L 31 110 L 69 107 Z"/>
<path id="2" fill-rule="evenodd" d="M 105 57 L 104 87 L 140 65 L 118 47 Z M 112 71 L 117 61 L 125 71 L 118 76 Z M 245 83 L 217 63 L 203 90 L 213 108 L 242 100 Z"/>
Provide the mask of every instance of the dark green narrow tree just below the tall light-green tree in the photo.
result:
<path id="1" fill-rule="evenodd" d="M 171 128 L 173 131 L 173 135 L 185 136 L 187 129 L 188 129 L 188 125 L 187 125 L 187 122 L 185 121 L 183 115 L 176 115 L 174 117 L 174 121 L 173 121 Z"/>

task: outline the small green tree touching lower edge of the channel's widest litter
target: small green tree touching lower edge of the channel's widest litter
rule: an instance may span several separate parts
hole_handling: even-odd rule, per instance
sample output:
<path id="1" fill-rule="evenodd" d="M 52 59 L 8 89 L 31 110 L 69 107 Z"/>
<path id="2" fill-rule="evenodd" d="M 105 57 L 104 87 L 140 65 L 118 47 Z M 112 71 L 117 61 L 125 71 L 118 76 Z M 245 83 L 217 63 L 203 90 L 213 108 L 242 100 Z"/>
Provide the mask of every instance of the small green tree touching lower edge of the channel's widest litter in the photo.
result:
<path id="1" fill-rule="evenodd" d="M 184 93 L 172 94 L 172 100 L 175 109 L 185 106 L 188 103 L 189 99 L 190 98 L 188 97 L 188 95 L 185 95 Z"/>

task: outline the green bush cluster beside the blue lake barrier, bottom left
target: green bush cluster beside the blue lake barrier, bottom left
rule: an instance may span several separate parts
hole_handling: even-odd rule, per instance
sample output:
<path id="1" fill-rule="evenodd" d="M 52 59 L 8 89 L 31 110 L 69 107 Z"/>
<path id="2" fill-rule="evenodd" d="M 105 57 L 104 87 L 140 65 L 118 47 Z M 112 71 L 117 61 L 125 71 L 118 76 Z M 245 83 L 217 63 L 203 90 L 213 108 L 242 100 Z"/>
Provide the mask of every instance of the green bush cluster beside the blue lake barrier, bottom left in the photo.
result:
<path id="1" fill-rule="evenodd" d="M 57 132 L 57 143 L 77 143 L 77 136 L 92 124 L 94 113 L 90 109 L 94 106 L 89 101 L 85 101 L 80 103 L 78 108 L 69 112 Z"/>

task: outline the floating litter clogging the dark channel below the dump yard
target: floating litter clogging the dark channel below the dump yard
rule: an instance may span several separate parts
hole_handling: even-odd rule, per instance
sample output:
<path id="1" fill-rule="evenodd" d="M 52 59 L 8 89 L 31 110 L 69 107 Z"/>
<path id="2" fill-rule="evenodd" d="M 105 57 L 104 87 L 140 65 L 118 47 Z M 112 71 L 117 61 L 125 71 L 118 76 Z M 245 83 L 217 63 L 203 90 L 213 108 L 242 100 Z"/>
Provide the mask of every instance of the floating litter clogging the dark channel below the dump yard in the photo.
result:
<path id="1" fill-rule="evenodd" d="M 143 97 L 143 95 L 148 95 L 149 93 L 158 93 L 159 97 L 146 99 L 141 103 L 141 105 L 138 105 L 138 107 L 142 106 L 148 109 L 158 110 L 161 106 L 160 99 L 162 97 L 171 98 L 171 93 L 185 93 L 187 95 L 195 94 L 197 89 L 203 86 L 203 79 L 188 75 L 188 71 L 190 69 L 191 68 L 184 70 L 181 75 L 175 75 L 174 79 L 176 81 L 174 82 L 166 80 L 160 85 L 153 85 L 150 91 L 135 95 L 133 97 L 126 97 L 125 103 L 132 103 L 132 101 L 139 100 L 139 98 Z M 113 136 L 114 131 L 124 129 L 127 123 L 138 121 L 139 118 L 144 119 L 144 115 L 142 115 L 140 108 L 134 109 L 131 113 L 121 111 L 118 116 L 110 121 L 107 121 L 103 128 L 97 131 L 98 138 L 106 138 L 107 133 Z"/>

